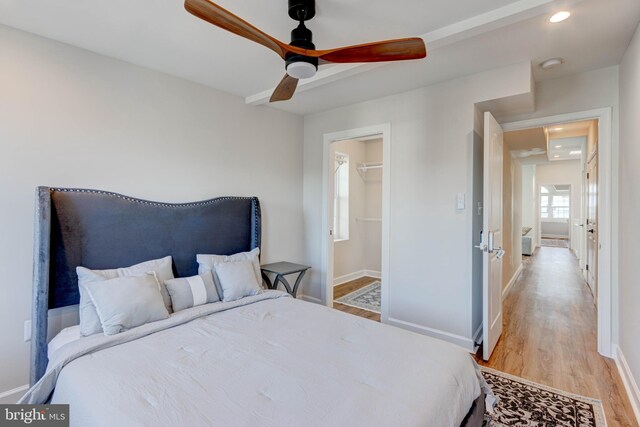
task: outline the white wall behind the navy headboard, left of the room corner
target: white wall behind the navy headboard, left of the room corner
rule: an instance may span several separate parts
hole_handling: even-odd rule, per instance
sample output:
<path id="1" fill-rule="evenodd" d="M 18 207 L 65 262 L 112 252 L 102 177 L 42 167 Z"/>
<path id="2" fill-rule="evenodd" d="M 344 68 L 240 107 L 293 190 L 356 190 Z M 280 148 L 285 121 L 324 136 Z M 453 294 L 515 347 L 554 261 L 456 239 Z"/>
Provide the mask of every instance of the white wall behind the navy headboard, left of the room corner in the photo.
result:
<path id="1" fill-rule="evenodd" d="M 263 261 L 304 261 L 302 119 L 0 26 L 0 393 L 28 382 L 38 185 L 255 195 Z"/>

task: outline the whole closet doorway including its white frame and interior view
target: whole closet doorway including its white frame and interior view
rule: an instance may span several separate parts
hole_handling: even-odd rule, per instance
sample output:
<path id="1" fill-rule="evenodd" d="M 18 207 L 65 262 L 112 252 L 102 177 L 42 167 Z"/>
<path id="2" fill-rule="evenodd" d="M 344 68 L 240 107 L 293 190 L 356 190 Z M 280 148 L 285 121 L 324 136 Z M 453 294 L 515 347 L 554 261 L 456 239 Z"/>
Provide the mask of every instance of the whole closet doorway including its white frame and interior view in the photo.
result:
<path id="1" fill-rule="evenodd" d="M 388 125 L 325 135 L 323 302 L 384 321 L 388 301 Z"/>

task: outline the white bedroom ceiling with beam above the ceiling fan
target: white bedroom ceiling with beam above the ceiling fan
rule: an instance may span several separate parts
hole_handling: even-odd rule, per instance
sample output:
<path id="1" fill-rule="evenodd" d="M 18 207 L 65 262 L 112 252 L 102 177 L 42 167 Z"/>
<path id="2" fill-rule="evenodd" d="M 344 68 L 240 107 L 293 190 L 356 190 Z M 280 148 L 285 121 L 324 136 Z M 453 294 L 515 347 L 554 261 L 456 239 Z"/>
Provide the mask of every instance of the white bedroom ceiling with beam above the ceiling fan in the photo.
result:
<path id="1" fill-rule="evenodd" d="M 296 25 L 287 1 L 219 0 L 272 36 Z M 549 24 L 566 8 L 569 20 Z M 560 56 L 562 67 L 536 80 L 615 65 L 640 19 L 638 0 L 317 0 L 308 22 L 318 48 L 422 36 L 426 60 L 378 67 L 336 65 L 304 82 L 293 100 L 272 104 L 306 114 L 456 76 Z M 263 103 L 284 74 L 263 46 L 187 13 L 181 0 L 0 0 L 0 23 L 183 77 Z M 263 93 L 264 92 L 264 93 Z"/>

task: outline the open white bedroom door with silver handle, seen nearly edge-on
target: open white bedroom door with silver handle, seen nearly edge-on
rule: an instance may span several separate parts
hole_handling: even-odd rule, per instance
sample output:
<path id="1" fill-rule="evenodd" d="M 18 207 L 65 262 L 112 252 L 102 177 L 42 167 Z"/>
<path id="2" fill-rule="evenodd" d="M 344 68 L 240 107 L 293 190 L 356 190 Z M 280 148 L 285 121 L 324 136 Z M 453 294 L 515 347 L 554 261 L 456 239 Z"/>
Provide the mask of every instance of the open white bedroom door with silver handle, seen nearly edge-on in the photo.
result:
<path id="1" fill-rule="evenodd" d="M 482 347 L 484 360 L 502 334 L 502 153 L 503 132 L 491 113 L 484 113 L 484 215 L 482 226 Z"/>

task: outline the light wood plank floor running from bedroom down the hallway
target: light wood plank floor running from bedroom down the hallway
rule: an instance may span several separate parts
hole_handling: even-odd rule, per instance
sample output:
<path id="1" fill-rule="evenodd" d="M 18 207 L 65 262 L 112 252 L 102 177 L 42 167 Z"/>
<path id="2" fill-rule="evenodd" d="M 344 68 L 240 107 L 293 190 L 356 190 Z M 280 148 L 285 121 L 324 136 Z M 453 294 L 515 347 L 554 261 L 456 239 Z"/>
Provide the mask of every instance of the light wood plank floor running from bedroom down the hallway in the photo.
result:
<path id="1" fill-rule="evenodd" d="M 609 427 L 637 426 L 612 359 L 597 352 L 596 308 L 569 249 L 542 247 L 504 300 L 500 371 L 602 400 Z M 481 354 L 481 353 L 479 353 Z"/>

